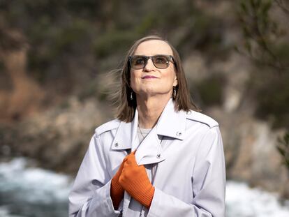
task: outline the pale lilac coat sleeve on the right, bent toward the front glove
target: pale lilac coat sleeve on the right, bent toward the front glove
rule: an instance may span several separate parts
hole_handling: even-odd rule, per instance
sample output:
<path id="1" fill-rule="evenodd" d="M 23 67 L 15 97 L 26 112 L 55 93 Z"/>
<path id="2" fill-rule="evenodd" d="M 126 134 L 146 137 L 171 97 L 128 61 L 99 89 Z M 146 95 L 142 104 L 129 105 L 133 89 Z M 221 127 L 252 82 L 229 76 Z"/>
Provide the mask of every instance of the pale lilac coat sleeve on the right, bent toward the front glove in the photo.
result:
<path id="1" fill-rule="evenodd" d="M 209 128 L 200 142 L 193 167 L 192 185 L 191 204 L 155 188 L 148 216 L 225 216 L 225 158 L 218 126 Z"/>

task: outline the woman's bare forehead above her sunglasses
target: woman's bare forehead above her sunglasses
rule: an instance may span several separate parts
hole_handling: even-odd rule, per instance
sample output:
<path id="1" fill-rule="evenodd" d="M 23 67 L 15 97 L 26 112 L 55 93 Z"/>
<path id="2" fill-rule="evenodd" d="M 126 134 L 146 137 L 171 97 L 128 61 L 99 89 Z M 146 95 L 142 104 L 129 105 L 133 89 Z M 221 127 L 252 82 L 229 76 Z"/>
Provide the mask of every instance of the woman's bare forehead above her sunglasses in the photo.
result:
<path id="1" fill-rule="evenodd" d="M 172 48 L 163 40 L 147 40 L 138 45 L 135 55 L 153 56 L 156 54 L 172 55 Z"/>

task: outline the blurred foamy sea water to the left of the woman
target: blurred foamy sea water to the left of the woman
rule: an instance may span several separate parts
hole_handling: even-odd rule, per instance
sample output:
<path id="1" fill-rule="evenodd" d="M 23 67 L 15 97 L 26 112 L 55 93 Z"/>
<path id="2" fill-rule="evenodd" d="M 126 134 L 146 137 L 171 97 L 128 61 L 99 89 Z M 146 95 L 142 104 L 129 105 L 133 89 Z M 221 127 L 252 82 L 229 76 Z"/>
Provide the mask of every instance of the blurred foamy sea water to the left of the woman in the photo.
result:
<path id="1" fill-rule="evenodd" d="M 68 216 L 71 179 L 17 158 L 0 164 L 0 217 Z"/>

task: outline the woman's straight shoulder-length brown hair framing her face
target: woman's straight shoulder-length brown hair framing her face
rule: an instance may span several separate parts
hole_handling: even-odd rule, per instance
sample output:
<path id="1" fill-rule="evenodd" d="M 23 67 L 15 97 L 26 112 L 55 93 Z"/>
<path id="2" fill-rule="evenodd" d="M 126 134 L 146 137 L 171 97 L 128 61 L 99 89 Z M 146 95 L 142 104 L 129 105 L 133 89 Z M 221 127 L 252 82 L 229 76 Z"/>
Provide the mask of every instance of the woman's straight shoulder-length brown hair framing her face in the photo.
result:
<path id="1" fill-rule="evenodd" d="M 124 65 L 120 69 L 121 73 L 121 84 L 120 88 L 117 89 L 117 92 L 114 93 L 114 98 L 117 98 L 117 118 L 121 121 L 131 122 L 133 121 L 133 117 L 135 116 L 136 109 L 136 96 L 133 90 L 131 89 L 131 67 L 129 65 L 128 57 L 133 56 L 135 50 L 138 48 L 140 43 L 143 43 L 147 40 L 163 40 L 165 43 L 168 43 L 172 49 L 172 54 L 175 60 L 175 73 L 177 75 L 177 96 L 172 97 L 172 100 L 175 101 L 175 110 L 180 111 L 184 110 L 188 112 L 188 110 L 198 110 L 198 108 L 194 105 L 191 100 L 190 93 L 188 91 L 188 86 L 186 84 L 186 77 L 184 74 L 183 66 L 181 65 L 181 59 L 175 47 L 165 39 L 160 36 L 145 36 L 144 38 L 140 38 L 135 41 L 135 43 L 131 46 L 131 49 L 128 50 L 126 57 L 124 59 Z M 133 100 L 131 100 L 131 93 L 133 92 Z"/>

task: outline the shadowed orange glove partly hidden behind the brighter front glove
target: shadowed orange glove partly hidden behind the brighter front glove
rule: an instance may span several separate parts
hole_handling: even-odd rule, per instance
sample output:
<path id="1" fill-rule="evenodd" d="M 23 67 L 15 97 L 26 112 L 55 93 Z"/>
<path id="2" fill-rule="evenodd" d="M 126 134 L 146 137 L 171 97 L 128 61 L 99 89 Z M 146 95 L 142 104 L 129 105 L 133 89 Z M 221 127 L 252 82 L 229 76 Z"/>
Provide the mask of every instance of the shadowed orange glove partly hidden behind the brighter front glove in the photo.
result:
<path id="1" fill-rule="evenodd" d="M 135 151 L 131 154 L 135 154 Z M 122 161 L 121 165 L 119 166 L 119 170 L 117 170 L 117 173 L 112 178 L 111 184 L 110 184 L 110 197 L 112 198 L 112 204 L 114 209 L 117 209 L 119 207 L 119 203 L 121 202 L 122 198 L 124 198 L 124 188 L 119 184 L 119 177 L 121 175 L 122 169 L 124 167 L 124 162 L 130 156 L 131 154 L 128 154 L 124 160 Z"/>

